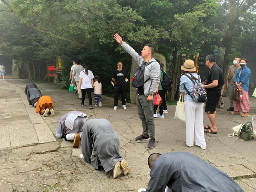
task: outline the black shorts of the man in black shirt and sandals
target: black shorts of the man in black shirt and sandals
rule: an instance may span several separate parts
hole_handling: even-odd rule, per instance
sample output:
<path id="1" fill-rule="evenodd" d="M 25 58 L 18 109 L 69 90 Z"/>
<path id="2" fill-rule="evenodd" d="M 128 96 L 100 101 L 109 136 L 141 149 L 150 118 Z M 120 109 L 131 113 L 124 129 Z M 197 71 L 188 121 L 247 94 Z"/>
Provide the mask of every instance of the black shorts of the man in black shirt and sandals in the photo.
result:
<path id="1" fill-rule="evenodd" d="M 210 91 L 207 92 L 207 101 L 205 104 L 205 112 L 214 114 L 218 102 L 220 100 L 221 91 Z"/>

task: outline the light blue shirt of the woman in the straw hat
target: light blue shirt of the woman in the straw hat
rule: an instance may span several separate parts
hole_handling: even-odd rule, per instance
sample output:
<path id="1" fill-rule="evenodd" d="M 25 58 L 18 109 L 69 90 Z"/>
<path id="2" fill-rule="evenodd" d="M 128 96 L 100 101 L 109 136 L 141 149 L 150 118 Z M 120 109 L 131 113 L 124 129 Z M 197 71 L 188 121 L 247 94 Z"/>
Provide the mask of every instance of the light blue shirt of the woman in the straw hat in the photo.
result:
<path id="1" fill-rule="evenodd" d="M 188 76 L 190 76 L 189 73 L 187 73 Z M 199 82 L 201 82 L 201 79 L 200 79 L 200 76 L 196 73 L 192 73 L 192 75 L 195 77 L 195 78 L 198 78 L 199 79 Z M 191 76 L 190 76 L 191 77 Z M 198 82 L 198 80 L 194 80 L 194 82 Z M 194 83 L 185 75 L 182 75 L 181 78 L 180 78 L 180 92 L 185 92 L 185 98 L 184 98 L 184 101 L 187 100 L 187 97 L 188 97 L 188 100 L 189 101 L 193 101 L 192 98 L 188 95 L 190 93 L 187 93 L 186 90 L 185 90 L 185 86 L 187 88 L 187 90 L 190 92 L 190 93 L 193 93 L 194 91 Z"/>

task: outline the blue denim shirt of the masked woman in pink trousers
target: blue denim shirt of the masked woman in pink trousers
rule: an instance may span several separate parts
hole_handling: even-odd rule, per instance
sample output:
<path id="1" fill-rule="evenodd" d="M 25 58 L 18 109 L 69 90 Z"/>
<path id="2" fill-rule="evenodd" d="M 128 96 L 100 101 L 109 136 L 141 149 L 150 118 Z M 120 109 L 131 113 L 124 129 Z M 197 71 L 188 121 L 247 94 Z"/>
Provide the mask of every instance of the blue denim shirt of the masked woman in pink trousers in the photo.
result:
<path id="1" fill-rule="evenodd" d="M 237 82 L 238 84 L 242 82 L 243 90 L 248 92 L 250 76 L 251 76 L 251 70 L 247 66 L 241 67 L 236 71 L 234 82 Z"/>

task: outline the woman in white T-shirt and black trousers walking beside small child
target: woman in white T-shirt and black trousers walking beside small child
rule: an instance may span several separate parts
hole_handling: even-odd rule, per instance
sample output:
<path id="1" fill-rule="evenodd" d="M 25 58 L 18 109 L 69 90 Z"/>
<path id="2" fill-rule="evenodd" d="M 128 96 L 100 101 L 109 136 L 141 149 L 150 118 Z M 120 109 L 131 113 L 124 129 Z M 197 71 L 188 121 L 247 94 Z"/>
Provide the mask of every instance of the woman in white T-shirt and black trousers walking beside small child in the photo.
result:
<path id="1" fill-rule="evenodd" d="M 90 70 L 88 70 L 87 65 L 83 64 L 84 70 L 80 72 L 79 75 L 79 82 L 78 82 L 78 89 L 82 90 L 82 101 L 80 105 L 84 106 L 84 99 L 87 92 L 88 100 L 89 100 L 89 107 L 92 110 L 92 90 L 93 90 L 93 74 Z"/>

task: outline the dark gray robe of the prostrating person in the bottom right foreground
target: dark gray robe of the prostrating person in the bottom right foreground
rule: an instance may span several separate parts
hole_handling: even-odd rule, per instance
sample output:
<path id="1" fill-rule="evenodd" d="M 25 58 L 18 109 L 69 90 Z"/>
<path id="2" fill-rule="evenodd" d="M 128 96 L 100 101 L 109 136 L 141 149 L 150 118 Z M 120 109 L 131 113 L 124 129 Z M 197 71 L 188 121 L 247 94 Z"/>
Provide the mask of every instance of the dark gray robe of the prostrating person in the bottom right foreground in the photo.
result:
<path id="1" fill-rule="evenodd" d="M 162 154 L 153 163 L 146 192 L 244 192 L 224 172 L 188 152 Z"/>

